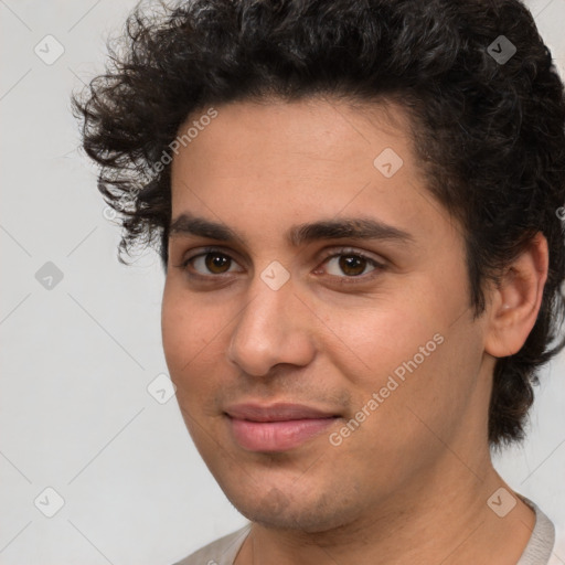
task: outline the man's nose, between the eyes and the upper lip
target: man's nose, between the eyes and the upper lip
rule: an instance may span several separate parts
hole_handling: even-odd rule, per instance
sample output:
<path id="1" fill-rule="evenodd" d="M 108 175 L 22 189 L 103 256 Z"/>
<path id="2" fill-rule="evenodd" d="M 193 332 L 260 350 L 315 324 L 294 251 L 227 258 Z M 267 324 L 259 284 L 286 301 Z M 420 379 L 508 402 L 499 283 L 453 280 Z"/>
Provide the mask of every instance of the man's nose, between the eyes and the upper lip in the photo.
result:
<path id="1" fill-rule="evenodd" d="M 228 360 L 254 376 L 266 375 L 280 363 L 307 365 L 316 353 L 311 327 L 316 316 L 297 296 L 292 277 L 275 290 L 259 275 L 234 326 Z"/>

